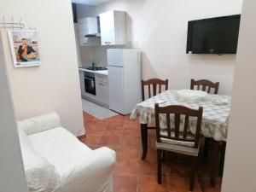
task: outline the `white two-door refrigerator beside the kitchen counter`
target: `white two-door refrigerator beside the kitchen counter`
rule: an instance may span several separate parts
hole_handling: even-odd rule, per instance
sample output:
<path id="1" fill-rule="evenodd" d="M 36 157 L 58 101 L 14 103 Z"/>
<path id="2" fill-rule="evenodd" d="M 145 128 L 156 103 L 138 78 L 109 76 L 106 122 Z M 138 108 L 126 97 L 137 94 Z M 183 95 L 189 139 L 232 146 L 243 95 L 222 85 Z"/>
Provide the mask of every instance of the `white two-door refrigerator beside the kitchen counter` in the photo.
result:
<path id="1" fill-rule="evenodd" d="M 141 102 L 141 57 L 138 49 L 108 49 L 109 108 L 129 114 Z"/>

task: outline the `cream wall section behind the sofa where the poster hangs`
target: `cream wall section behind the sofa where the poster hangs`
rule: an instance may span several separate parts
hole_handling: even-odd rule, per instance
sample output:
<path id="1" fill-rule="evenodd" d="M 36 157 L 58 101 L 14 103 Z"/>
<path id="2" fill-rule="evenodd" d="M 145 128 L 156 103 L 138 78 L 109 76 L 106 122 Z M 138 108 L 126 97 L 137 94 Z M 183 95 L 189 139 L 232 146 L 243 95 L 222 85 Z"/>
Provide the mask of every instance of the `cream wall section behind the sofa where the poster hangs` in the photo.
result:
<path id="1" fill-rule="evenodd" d="M 70 0 L 0 1 L 0 13 L 37 27 L 40 67 L 14 68 L 7 33 L 2 32 L 4 54 L 15 112 L 23 119 L 55 111 L 75 135 L 84 134 L 79 70 Z"/>

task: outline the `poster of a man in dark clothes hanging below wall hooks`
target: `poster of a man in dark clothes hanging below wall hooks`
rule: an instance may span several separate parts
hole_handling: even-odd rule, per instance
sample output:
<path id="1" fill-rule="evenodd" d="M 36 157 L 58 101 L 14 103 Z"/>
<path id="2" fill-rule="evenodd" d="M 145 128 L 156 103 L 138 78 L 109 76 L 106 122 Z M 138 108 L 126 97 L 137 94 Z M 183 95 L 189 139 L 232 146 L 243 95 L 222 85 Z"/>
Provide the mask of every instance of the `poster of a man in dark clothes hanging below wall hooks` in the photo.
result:
<path id="1" fill-rule="evenodd" d="M 15 67 L 40 66 L 38 38 L 35 30 L 8 31 Z"/>

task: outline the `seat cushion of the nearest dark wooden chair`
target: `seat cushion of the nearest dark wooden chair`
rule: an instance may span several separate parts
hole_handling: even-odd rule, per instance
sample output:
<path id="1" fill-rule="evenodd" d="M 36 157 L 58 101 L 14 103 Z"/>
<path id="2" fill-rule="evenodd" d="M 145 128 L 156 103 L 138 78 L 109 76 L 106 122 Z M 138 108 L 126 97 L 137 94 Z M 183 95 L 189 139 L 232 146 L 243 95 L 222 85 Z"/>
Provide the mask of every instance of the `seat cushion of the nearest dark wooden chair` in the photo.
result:
<path id="1" fill-rule="evenodd" d="M 178 154 L 188 154 L 191 156 L 198 156 L 199 148 L 190 148 L 171 143 L 156 143 L 156 148 L 166 151 L 172 151 Z"/>

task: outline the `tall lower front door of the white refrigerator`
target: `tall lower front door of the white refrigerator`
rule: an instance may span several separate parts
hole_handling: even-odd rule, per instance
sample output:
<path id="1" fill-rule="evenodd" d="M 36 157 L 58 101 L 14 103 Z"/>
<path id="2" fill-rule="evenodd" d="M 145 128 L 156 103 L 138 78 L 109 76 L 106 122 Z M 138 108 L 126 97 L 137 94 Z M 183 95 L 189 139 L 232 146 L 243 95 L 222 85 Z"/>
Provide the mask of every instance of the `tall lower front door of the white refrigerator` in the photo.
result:
<path id="1" fill-rule="evenodd" d="M 109 108 L 124 112 L 124 70 L 123 67 L 108 66 Z"/>

